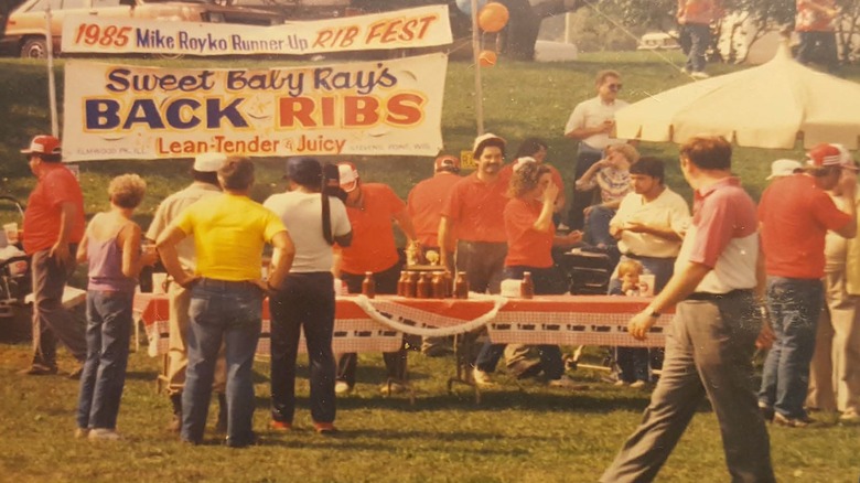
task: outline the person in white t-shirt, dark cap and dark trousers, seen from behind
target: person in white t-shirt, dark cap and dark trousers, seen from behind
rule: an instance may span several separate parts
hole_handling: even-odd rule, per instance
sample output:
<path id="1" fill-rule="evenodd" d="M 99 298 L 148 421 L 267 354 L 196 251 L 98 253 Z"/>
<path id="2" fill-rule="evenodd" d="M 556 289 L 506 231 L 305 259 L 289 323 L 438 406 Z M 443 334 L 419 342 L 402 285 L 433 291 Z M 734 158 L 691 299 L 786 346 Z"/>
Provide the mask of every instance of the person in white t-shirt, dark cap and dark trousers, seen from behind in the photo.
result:
<path id="1" fill-rule="evenodd" d="M 293 236 L 292 268 L 269 299 L 271 311 L 271 428 L 287 431 L 295 411 L 295 356 L 304 330 L 311 369 L 311 417 L 320 433 L 335 432 L 334 276 L 332 246 L 350 246 L 352 227 L 343 202 L 323 190 L 323 170 L 313 158 L 287 161 L 289 191 L 264 206 Z"/>

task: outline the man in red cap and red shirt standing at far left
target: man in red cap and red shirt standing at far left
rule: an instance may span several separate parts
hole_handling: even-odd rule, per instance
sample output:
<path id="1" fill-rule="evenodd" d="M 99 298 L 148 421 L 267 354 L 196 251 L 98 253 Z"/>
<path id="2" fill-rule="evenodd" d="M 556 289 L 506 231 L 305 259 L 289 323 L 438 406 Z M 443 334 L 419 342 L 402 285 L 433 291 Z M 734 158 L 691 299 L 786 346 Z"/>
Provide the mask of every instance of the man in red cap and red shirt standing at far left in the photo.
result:
<path id="1" fill-rule="evenodd" d="M 63 307 L 63 290 L 75 271 L 77 244 L 84 236 L 84 195 L 62 163 L 60 140 L 36 136 L 21 150 L 39 179 L 24 212 L 24 251 L 33 275 L 33 363 L 28 375 L 56 374 L 56 339 L 83 364 L 84 325 Z M 80 369 L 72 372 L 77 377 Z"/>

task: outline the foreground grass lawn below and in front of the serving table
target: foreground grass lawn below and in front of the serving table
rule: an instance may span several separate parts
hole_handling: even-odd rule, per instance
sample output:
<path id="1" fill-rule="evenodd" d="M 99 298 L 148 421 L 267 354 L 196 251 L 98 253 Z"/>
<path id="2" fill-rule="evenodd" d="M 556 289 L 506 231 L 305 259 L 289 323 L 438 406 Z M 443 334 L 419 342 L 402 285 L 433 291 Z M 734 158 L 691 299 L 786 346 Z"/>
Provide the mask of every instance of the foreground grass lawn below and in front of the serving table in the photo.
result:
<path id="1" fill-rule="evenodd" d="M 25 342 L 9 328 L 0 345 L 0 474 L 9 482 L 82 481 L 596 481 L 647 405 L 647 389 L 616 388 L 599 372 L 571 375 L 590 385 L 579 393 L 549 389 L 503 376 L 482 394 L 480 406 L 465 386 L 445 391 L 453 358 L 410 354 L 417 402 L 377 391 L 384 367 L 378 354 L 362 355 L 356 390 L 338 398 L 335 438 L 316 436 L 308 409 L 307 365 L 298 384 L 297 428 L 273 433 L 268 423 L 268 364 L 256 369 L 255 428 L 262 444 L 232 450 L 209 443 L 189 447 L 163 428 L 166 396 L 155 393 L 159 359 L 132 353 L 119 415 L 125 441 L 76 440 L 77 384 L 63 376 L 28 377 Z M 19 334 L 25 330 L 21 324 Z M 61 368 L 73 367 L 68 357 Z M 214 417 L 214 416 L 213 416 Z M 781 482 L 856 482 L 860 475 L 858 428 L 771 427 L 773 462 Z M 212 420 L 211 420 L 212 422 Z M 719 428 L 707 404 L 673 452 L 658 481 L 728 481 Z"/>

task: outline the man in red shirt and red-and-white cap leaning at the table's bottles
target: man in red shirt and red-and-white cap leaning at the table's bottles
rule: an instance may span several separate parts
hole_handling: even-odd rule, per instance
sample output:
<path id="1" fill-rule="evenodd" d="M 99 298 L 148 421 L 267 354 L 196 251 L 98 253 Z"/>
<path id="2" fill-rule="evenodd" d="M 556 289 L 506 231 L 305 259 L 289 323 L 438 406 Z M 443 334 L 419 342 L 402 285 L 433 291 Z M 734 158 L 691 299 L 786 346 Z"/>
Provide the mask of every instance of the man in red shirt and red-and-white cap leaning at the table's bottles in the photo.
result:
<path id="1" fill-rule="evenodd" d="M 391 222 L 406 235 L 408 243 L 416 239 L 412 218 L 406 203 L 388 185 L 362 183 L 351 162 L 337 163 L 341 187 L 346 192 L 346 216 L 353 226 L 353 240 L 335 257 L 335 275 L 346 283 L 350 293 L 362 293 L 362 281 L 372 272 L 376 293 L 397 293 L 400 278 L 400 256 L 394 238 Z M 406 390 L 406 348 L 383 354 L 389 382 L 383 393 Z M 335 393 L 343 394 L 355 386 L 358 357 L 355 353 L 337 355 Z"/>

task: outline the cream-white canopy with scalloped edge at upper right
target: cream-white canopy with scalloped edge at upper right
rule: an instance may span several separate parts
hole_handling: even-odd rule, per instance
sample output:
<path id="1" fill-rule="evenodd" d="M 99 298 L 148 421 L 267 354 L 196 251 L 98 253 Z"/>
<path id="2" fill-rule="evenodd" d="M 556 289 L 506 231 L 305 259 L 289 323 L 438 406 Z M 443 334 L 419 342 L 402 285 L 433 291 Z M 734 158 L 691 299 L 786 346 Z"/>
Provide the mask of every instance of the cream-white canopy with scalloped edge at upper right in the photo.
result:
<path id="1" fill-rule="evenodd" d="M 723 136 L 738 146 L 792 149 L 839 142 L 858 148 L 860 84 L 808 68 L 785 45 L 757 67 L 651 96 L 615 114 L 616 136 L 684 142 Z"/>

